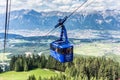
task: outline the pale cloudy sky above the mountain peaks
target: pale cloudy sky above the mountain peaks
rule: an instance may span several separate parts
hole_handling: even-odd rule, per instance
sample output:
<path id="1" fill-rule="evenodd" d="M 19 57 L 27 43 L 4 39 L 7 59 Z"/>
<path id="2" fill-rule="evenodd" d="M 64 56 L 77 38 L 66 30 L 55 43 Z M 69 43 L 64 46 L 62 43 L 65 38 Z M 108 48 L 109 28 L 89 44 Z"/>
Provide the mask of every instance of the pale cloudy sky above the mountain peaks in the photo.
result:
<path id="1" fill-rule="evenodd" d="M 11 0 L 12 10 L 73 11 L 85 0 Z M 93 1 L 92 4 L 90 4 Z M 0 13 L 5 12 L 6 0 L 0 0 Z M 120 0 L 88 0 L 85 10 L 120 9 Z M 85 6 L 87 6 L 87 4 Z M 83 6 L 83 7 L 85 7 Z M 80 10 L 80 9 L 79 9 Z"/>

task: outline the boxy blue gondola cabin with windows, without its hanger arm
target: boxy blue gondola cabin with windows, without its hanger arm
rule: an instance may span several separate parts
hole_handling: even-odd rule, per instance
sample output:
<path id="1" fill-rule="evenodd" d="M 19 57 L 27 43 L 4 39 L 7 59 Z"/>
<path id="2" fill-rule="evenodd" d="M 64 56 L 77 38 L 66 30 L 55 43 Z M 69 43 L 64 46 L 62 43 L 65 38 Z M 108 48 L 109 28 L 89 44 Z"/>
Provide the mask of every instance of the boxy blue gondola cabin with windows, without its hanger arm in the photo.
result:
<path id="1" fill-rule="evenodd" d="M 73 45 L 64 41 L 55 41 L 50 44 L 50 55 L 59 62 L 73 61 Z"/>

